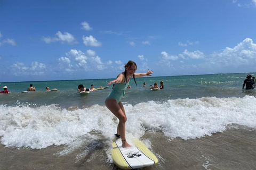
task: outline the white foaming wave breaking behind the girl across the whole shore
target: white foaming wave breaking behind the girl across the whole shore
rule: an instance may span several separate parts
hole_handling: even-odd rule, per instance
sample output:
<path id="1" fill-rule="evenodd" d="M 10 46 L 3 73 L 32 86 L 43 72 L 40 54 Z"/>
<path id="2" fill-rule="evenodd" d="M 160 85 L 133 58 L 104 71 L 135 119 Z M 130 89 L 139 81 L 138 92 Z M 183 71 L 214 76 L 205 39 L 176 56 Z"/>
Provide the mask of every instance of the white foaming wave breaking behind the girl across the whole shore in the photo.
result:
<path id="1" fill-rule="evenodd" d="M 174 99 L 124 104 L 126 138 L 140 138 L 147 130 L 162 131 L 170 139 L 205 137 L 226 130 L 229 124 L 256 128 L 256 98 Z M 56 105 L 21 107 L 0 105 L 0 136 L 5 146 L 46 148 L 90 140 L 92 131 L 114 137 L 118 119 L 106 106 L 68 111 Z M 80 139 L 80 140 L 77 140 Z"/>

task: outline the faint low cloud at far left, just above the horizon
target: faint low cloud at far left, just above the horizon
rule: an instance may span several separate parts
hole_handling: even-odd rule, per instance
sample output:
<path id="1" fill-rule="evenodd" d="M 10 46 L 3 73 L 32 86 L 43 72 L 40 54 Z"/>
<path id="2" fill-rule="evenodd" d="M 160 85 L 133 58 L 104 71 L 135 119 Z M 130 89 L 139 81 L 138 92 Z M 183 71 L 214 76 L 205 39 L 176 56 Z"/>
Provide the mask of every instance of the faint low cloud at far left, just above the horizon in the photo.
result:
<path id="1" fill-rule="evenodd" d="M 46 71 L 46 65 L 43 63 L 32 62 L 29 67 L 24 63 L 16 62 L 11 66 L 14 75 L 43 75 Z"/>

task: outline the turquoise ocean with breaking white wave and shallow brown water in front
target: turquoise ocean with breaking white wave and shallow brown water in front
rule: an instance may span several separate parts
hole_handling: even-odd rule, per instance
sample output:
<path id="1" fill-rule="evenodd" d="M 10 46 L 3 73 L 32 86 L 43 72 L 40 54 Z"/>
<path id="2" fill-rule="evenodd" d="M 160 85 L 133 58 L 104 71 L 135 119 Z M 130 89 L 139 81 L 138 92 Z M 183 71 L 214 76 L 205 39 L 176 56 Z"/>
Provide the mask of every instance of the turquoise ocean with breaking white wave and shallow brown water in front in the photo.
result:
<path id="1" fill-rule="evenodd" d="M 247 74 L 131 79 L 121 99 L 126 139 L 139 138 L 159 160 L 143 169 L 256 169 L 256 91 L 242 90 Z M 118 169 L 118 120 L 105 106 L 112 85 L 77 92 L 111 80 L 0 83 L 10 91 L 0 94 L 0 169 Z M 160 81 L 164 89 L 149 89 Z M 37 91 L 22 93 L 30 83 Z"/>

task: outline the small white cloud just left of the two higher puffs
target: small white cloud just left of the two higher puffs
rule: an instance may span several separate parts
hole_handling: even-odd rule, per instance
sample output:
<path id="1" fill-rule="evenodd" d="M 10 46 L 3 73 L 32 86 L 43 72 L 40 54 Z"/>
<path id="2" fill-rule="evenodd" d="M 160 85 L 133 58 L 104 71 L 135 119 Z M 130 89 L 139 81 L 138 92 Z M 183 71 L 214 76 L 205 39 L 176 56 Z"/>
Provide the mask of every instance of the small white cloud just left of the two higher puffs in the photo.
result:
<path id="1" fill-rule="evenodd" d="M 42 40 L 47 44 L 55 43 L 57 41 L 61 41 L 62 44 L 77 44 L 75 37 L 68 32 L 61 33 L 58 31 L 56 36 L 57 37 L 42 37 Z"/>

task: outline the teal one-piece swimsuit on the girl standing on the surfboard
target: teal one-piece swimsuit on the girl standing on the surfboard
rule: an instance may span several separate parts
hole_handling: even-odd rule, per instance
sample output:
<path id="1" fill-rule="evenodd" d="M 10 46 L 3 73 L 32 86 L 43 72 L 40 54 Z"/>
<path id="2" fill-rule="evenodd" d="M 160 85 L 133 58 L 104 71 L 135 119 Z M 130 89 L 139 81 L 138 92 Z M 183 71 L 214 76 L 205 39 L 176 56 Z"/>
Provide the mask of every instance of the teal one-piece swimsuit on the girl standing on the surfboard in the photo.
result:
<path id="1" fill-rule="evenodd" d="M 124 73 L 121 73 L 121 74 L 124 74 Z M 117 103 L 119 103 L 119 101 L 121 100 L 121 97 L 125 95 L 125 90 L 129 86 L 130 79 L 131 79 L 131 77 L 129 78 L 129 81 L 126 84 L 125 84 L 125 82 L 124 83 L 116 83 L 114 86 L 114 89 L 108 95 L 106 100 L 108 98 L 114 98 L 114 99 L 116 99 Z M 105 102 L 106 102 L 106 100 L 105 100 Z"/>

